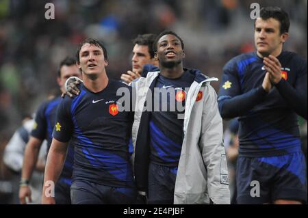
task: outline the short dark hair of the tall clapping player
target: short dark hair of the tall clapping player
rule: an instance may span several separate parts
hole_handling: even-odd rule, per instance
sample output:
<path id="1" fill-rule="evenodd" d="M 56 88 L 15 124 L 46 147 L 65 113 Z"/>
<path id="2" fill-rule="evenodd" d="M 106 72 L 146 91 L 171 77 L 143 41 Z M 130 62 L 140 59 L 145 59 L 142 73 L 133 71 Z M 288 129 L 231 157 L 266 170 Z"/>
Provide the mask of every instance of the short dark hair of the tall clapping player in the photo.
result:
<path id="1" fill-rule="evenodd" d="M 262 18 L 264 21 L 268 20 L 269 18 L 274 18 L 280 23 L 280 33 L 281 34 L 289 32 L 289 29 L 290 29 L 289 14 L 287 14 L 287 12 L 285 12 L 279 7 L 261 8 L 260 18 Z"/>

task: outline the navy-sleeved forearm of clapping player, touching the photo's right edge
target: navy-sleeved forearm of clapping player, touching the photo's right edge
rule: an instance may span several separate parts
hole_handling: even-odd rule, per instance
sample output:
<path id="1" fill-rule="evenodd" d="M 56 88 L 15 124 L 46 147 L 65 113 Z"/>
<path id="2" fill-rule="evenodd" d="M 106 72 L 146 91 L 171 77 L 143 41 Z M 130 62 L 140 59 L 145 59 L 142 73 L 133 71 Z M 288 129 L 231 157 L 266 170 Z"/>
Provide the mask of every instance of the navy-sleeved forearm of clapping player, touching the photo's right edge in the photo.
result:
<path id="1" fill-rule="evenodd" d="M 307 77 L 303 81 L 307 83 Z M 287 105 L 294 109 L 294 111 L 307 120 L 307 87 L 300 88 L 298 91 L 287 83 L 284 79 L 281 79 L 277 85 L 277 90 L 287 102 Z"/>

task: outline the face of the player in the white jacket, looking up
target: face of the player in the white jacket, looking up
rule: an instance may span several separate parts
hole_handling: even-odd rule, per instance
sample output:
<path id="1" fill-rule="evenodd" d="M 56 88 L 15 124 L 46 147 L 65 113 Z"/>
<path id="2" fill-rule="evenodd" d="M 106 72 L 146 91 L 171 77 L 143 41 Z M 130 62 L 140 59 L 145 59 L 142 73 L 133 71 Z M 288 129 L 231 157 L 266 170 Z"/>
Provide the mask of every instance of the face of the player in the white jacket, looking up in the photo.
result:
<path id="1" fill-rule="evenodd" d="M 172 34 L 159 38 L 157 42 L 157 57 L 159 63 L 165 67 L 173 67 L 180 64 L 185 54 L 179 38 Z"/>

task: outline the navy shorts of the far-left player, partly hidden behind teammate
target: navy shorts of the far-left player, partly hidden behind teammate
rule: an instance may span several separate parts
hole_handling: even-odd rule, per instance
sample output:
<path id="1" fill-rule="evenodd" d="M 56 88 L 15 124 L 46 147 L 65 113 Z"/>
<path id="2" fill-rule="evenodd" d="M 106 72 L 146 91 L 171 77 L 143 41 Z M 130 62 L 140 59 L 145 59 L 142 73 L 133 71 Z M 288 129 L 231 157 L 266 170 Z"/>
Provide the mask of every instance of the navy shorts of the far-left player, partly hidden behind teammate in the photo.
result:
<path id="1" fill-rule="evenodd" d="M 60 178 L 55 184 L 55 204 L 71 204 L 70 202 L 70 178 Z"/>

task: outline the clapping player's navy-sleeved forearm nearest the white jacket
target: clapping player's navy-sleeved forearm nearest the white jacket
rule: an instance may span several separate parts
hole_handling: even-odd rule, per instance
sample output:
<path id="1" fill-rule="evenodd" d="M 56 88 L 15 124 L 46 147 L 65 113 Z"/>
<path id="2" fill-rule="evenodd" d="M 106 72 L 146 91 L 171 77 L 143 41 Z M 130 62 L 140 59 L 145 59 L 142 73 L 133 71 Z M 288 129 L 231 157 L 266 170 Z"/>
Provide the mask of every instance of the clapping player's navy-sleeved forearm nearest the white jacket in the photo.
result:
<path id="1" fill-rule="evenodd" d="M 223 119 L 232 119 L 245 115 L 255 105 L 259 104 L 266 94 L 268 93 L 263 87 L 258 87 L 233 98 L 218 100 L 220 115 Z"/>

